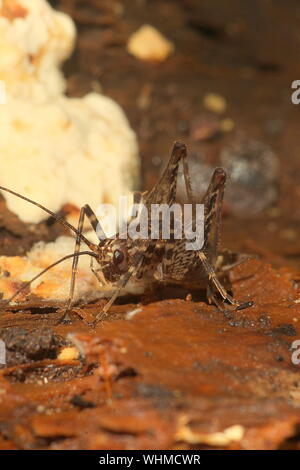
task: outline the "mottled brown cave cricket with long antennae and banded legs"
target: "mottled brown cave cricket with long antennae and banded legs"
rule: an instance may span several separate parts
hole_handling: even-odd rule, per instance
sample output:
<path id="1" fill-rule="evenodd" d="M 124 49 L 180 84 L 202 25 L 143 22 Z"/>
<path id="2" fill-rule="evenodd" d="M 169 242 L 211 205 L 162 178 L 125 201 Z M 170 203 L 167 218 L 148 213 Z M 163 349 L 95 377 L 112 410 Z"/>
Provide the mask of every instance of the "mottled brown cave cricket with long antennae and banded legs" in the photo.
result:
<path id="1" fill-rule="evenodd" d="M 135 192 L 133 195 L 134 204 L 143 204 L 147 210 L 151 208 L 152 204 L 172 206 L 176 198 L 180 163 L 183 165 L 187 199 L 190 203 L 194 203 L 186 146 L 181 142 L 175 142 L 168 164 L 158 183 L 150 191 Z M 196 251 L 187 251 L 185 249 L 186 240 L 184 238 L 175 239 L 174 230 L 168 240 L 162 238 L 124 239 L 120 236 L 120 232 L 114 238 L 107 238 L 99 220 L 88 204 L 81 208 L 78 226 L 75 228 L 63 217 L 54 214 L 41 204 L 0 186 L 0 190 L 14 194 L 39 207 L 76 235 L 74 253 L 64 256 L 45 268 L 15 292 L 7 300 L 7 303 L 10 303 L 21 291 L 45 272 L 59 263 L 73 258 L 69 298 L 65 313 L 61 318 L 63 320 L 73 304 L 78 259 L 80 256 L 87 255 L 91 257 L 91 270 L 100 285 L 105 286 L 110 283 L 114 286 L 113 295 L 96 316 L 94 325 L 105 317 L 130 279 L 141 280 L 144 276 L 149 279 L 149 273 L 152 274 L 152 279 L 156 279 L 155 282 L 177 283 L 189 287 L 194 285 L 196 288 L 205 286 L 209 303 L 214 303 L 220 310 L 225 310 L 225 304 L 229 304 L 229 307 L 233 310 L 241 310 L 251 306 L 251 302 L 240 303 L 234 299 L 219 280 L 229 269 L 243 261 L 242 256 L 234 256 L 219 249 L 225 181 L 225 171 L 222 168 L 216 168 L 202 200 L 204 204 L 204 243 L 201 249 Z M 99 244 L 90 242 L 83 234 L 86 217 L 99 238 Z M 150 224 L 150 219 L 148 223 Z M 81 242 L 84 242 L 89 250 L 80 251 Z M 93 263 L 95 260 L 98 263 L 97 269 L 95 269 Z"/>

